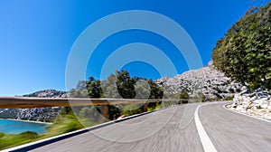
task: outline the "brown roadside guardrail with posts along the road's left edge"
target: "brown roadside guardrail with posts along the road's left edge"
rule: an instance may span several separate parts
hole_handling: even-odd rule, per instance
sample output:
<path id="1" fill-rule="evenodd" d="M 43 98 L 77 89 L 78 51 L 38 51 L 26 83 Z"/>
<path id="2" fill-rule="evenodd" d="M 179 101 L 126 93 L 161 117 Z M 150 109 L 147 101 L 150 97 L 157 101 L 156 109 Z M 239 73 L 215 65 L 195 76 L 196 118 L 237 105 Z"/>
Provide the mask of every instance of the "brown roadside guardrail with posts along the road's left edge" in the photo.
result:
<path id="1" fill-rule="evenodd" d="M 116 104 L 140 103 L 147 111 L 148 103 L 177 102 L 179 99 L 158 100 L 129 100 L 129 99 L 88 99 L 88 98 L 29 98 L 29 97 L 0 97 L 0 109 L 27 109 L 43 107 L 70 106 L 102 106 L 102 115 L 108 118 L 108 106 Z"/>

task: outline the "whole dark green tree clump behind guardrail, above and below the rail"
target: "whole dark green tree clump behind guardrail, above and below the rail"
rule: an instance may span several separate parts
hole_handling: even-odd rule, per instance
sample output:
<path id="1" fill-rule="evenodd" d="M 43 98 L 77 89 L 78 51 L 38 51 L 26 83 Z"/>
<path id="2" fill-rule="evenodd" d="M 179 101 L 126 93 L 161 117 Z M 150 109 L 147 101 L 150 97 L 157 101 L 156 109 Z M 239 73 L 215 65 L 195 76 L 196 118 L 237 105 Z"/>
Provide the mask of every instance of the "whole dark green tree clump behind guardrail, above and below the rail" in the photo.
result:
<path id="1" fill-rule="evenodd" d="M 145 78 L 131 77 L 128 71 L 116 71 L 107 77 L 106 81 L 95 80 L 93 77 L 89 81 L 79 81 L 76 89 L 70 90 L 70 97 L 76 98 L 108 98 L 108 99 L 162 99 L 164 91 L 158 87 L 153 80 Z M 159 103 L 158 103 L 159 104 Z M 158 107 L 156 103 L 149 103 L 150 109 Z M 110 105 L 108 107 L 109 118 L 117 119 L 120 116 L 130 116 L 144 111 L 144 104 L 119 104 Z M 83 112 L 84 111 L 84 112 Z M 82 113 L 85 116 L 81 118 L 97 118 L 91 119 L 93 122 L 102 121 L 99 112 L 100 106 L 92 106 L 91 108 L 73 108 L 73 112 L 79 117 Z M 92 114 L 92 115 L 91 115 Z M 94 116 L 95 114 L 95 116 Z"/>

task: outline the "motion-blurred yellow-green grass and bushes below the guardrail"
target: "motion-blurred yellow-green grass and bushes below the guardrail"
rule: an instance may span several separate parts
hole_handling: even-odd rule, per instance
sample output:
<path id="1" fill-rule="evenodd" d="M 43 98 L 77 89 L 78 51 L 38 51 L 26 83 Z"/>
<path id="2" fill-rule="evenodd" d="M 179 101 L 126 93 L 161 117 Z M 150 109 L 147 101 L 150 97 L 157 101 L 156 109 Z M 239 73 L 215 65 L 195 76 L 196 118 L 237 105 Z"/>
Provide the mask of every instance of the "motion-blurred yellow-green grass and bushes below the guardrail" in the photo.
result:
<path id="1" fill-rule="evenodd" d="M 85 113 L 86 111 L 87 113 Z M 54 119 L 53 124 L 47 128 L 47 133 L 43 135 L 38 135 L 37 133 L 30 131 L 20 134 L 4 134 L 0 132 L 0 150 L 9 147 L 16 147 L 43 138 L 51 138 L 101 123 L 93 119 L 95 117 L 91 117 L 93 112 L 86 117 L 86 114 L 89 114 L 89 109 L 83 108 L 81 110 L 81 114 L 82 116 L 77 117 L 70 108 L 61 109 L 61 113 Z"/>

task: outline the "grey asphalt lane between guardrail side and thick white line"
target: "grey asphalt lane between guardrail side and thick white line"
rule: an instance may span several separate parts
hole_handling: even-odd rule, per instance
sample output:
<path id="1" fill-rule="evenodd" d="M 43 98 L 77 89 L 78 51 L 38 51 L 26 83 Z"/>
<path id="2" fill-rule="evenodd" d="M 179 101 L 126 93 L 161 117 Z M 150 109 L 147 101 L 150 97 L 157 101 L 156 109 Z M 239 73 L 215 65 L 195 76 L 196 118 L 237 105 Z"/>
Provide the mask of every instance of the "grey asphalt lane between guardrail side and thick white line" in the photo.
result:
<path id="1" fill-rule="evenodd" d="M 98 128 L 73 138 L 66 138 L 33 151 L 203 151 L 197 128 L 193 121 L 194 110 L 197 104 L 178 106 L 147 114 L 135 119 L 128 119 L 105 128 Z M 176 109 L 176 110 L 175 110 Z M 182 117 L 183 114 L 186 117 Z M 172 119 L 164 119 L 163 115 L 173 114 Z M 145 121 L 145 119 L 150 121 Z M 165 117 L 167 118 L 167 117 Z M 125 128 L 128 124 L 137 124 L 144 121 L 140 128 Z M 163 128 L 154 131 L 154 134 L 140 139 L 136 136 L 146 133 L 146 128 L 153 128 L 156 123 L 166 121 Z M 146 125 L 145 125 L 146 124 Z M 124 127 L 122 127 L 124 125 Z M 98 137 L 100 135 L 100 137 Z M 107 135 L 107 137 L 105 137 Z M 101 138 L 102 137 L 102 138 Z M 132 141 L 127 137 L 135 137 Z M 138 140 L 139 139 L 139 140 Z M 115 141 L 114 141 L 115 140 Z M 121 141 L 121 142 L 118 142 Z"/>

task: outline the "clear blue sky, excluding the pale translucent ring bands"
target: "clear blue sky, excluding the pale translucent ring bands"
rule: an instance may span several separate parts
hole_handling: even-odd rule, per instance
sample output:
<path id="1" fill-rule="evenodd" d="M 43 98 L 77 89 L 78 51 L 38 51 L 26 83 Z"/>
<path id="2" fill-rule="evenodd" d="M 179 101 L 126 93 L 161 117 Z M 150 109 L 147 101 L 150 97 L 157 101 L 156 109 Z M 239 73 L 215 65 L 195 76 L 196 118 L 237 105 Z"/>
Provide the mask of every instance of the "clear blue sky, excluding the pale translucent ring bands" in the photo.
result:
<path id="1" fill-rule="evenodd" d="M 65 90 L 65 68 L 70 48 L 89 24 L 108 14 L 126 10 L 147 10 L 172 18 L 196 44 L 203 64 L 210 61 L 216 41 L 259 0 L 2 0 L 0 1 L 0 95 L 23 95 L 36 90 Z M 89 62 L 87 76 L 98 78 L 105 55 L 127 43 L 151 43 L 164 50 L 187 71 L 181 58 L 175 58 L 169 43 L 143 31 L 126 31 L 101 43 Z M 96 62 L 95 64 L 91 62 Z M 124 69 L 132 75 L 158 79 L 154 67 L 131 62 Z M 170 75 L 173 76 L 173 75 Z"/>

